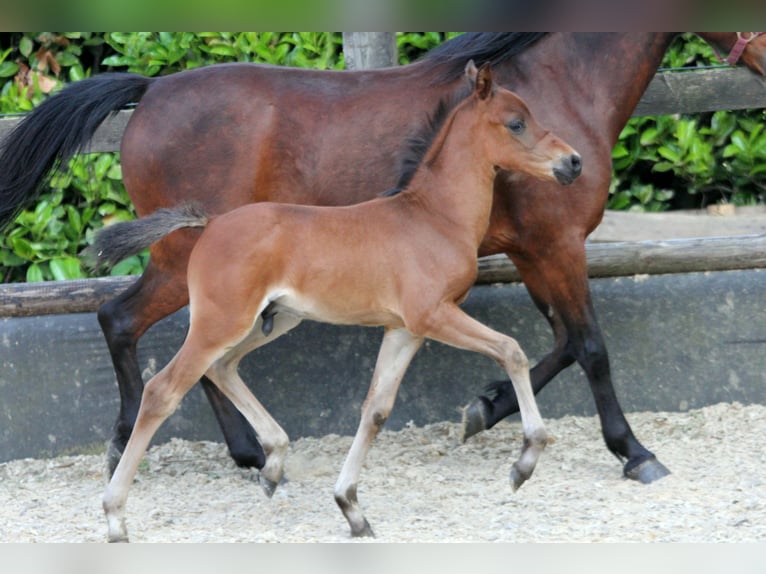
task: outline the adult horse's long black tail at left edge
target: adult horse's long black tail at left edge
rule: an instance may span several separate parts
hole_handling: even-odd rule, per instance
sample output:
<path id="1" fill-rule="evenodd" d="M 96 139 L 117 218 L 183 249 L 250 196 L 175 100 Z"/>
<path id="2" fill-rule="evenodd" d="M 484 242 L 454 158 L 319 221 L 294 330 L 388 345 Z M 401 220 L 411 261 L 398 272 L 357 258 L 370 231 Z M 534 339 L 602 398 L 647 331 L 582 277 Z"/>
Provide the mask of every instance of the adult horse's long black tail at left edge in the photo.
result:
<path id="1" fill-rule="evenodd" d="M 54 169 L 82 151 L 109 115 L 138 102 L 152 81 L 99 74 L 69 84 L 27 114 L 0 144 L 0 230 L 37 198 Z"/>

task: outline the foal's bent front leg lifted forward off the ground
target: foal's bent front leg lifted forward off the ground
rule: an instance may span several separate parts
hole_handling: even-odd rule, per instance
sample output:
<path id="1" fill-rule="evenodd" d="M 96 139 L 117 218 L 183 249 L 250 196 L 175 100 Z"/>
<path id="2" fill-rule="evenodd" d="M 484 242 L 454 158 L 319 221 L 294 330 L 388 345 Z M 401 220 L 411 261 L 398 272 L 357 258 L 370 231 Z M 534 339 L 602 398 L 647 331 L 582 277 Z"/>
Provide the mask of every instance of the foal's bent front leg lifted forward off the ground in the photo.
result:
<path id="1" fill-rule="evenodd" d="M 513 463 L 511 470 L 511 484 L 516 490 L 532 475 L 548 441 L 548 434 L 532 391 L 526 355 L 514 339 L 476 321 L 454 304 L 443 304 L 439 308 L 432 316 L 425 335 L 453 347 L 487 355 L 508 373 L 515 396 L 519 399 L 518 406 L 524 429 L 521 456 Z"/>

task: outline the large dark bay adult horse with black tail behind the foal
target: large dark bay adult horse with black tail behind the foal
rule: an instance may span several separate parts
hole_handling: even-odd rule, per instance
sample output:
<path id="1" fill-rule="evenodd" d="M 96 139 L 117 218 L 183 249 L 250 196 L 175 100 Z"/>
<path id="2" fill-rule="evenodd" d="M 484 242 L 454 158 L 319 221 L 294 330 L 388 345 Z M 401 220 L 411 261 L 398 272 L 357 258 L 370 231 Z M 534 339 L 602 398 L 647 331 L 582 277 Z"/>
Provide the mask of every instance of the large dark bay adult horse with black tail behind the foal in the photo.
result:
<path id="1" fill-rule="evenodd" d="M 700 35 L 723 51 L 744 46 L 742 62 L 766 72 L 766 36 L 745 37 L 751 41 L 743 44 L 734 32 Z M 535 392 L 579 363 L 608 449 L 625 463 L 626 476 L 650 482 L 667 470 L 636 439 L 617 400 L 590 299 L 585 238 L 603 215 L 611 149 L 674 37 L 478 33 L 445 42 L 414 64 L 376 71 L 233 64 L 153 79 L 97 76 L 47 100 L 6 140 L 0 218 L 29 204 L 51 168 L 83 146 L 109 113 L 139 100 L 121 152 L 125 186 L 141 216 L 190 200 L 210 213 L 267 199 L 359 202 L 394 184 L 403 134 L 463 81 L 465 62 L 490 61 L 497 81 L 533 101 L 540 122 L 572 144 L 587 169 L 566 193 L 517 173 L 499 174 L 479 255 L 506 253 L 553 329 L 553 350 L 532 370 Z M 196 238 L 182 231 L 154 246 L 142 277 L 99 311 L 121 397 L 112 468 L 143 388 L 137 341 L 187 303 L 186 261 Z M 234 459 L 262 466 L 250 426 L 212 385 L 204 388 Z M 467 435 L 517 410 L 508 385 L 494 390 L 467 409 Z"/>

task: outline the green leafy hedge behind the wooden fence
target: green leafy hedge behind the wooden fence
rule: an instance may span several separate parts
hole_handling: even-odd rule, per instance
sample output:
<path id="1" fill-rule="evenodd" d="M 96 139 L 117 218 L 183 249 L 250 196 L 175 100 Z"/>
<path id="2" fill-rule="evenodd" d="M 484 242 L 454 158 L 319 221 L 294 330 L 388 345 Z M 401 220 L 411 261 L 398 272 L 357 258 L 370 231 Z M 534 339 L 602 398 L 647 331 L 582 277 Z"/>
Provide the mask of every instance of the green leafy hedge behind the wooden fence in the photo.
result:
<path id="1" fill-rule="evenodd" d="M 408 63 L 456 33 L 399 33 Z M 66 82 L 104 71 L 155 76 L 227 61 L 341 69 L 342 37 L 330 32 L 34 32 L 0 33 L 0 113 L 25 112 Z M 715 62 L 701 40 L 683 36 L 664 67 Z M 635 118 L 613 153 L 611 209 L 700 207 L 763 202 L 763 111 Z M 0 282 L 86 276 L 77 253 L 95 230 L 134 217 L 122 185 L 119 154 L 77 157 L 49 193 L 0 238 Z M 146 255 L 113 274 L 140 273 Z"/>

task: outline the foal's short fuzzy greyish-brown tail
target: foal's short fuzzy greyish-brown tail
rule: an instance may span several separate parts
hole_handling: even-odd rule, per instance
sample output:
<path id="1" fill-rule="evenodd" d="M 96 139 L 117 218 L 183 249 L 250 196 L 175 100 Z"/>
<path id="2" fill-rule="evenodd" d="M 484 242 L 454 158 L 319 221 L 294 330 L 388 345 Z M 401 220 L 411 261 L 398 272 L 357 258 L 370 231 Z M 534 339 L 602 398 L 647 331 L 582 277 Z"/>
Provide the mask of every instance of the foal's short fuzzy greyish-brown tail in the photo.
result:
<path id="1" fill-rule="evenodd" d="M 109 269 L 177 229 L 205 227 L 208 220 L 208 215 L 194 203 L 158 209 L 146 217 L 104 227 L 80 256 L 94 269 Z"/>

